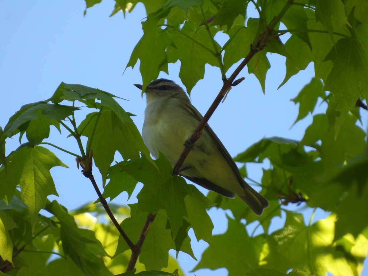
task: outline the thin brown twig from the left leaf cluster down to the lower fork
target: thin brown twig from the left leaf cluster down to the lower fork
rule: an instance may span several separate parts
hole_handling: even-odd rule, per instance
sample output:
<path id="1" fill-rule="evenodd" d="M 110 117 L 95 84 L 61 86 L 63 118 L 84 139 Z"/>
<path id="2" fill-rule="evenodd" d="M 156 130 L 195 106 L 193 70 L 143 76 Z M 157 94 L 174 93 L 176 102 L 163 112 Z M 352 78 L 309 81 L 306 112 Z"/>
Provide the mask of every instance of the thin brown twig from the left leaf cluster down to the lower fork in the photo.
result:
<path id="1" fill-rule="evenodd" d="M 131 250 L 134 250 L 135 245 L 132 243 L 132 241 L 128 238 L 127 234 L 125 234 L 124 230 L 121 228 L 120 224 L 115 219 L 113 213 L 111 212 L 111 209 L 109 205 L 107 205 L 106 199 L 102 196 L 100 189 L 97 186 L 95 177 L 93 177 L 92 174 L 92 151 L 90 152 L 89 158 L 86 160 L 86 163 L 82 162 L 81 160 L 78 160 L 78 163 L 82 166 L 83 170 L 82 173 L 85 177 L 89 178 L 91 180 L 91 183 L 93 185 L 93 188 L 95 188 L 95 191 L 98 195 L 98 198 L 100 199 L 100 202 L 105 208 L 107 215 L 109 215 L 111 221 L 113 222 L 116 229 L 119 231 L 120 235 L 124 238 L 125 242 L 128 244 L 129 248 Z M 87 166 L 86 166 L 87 164 Z"/>

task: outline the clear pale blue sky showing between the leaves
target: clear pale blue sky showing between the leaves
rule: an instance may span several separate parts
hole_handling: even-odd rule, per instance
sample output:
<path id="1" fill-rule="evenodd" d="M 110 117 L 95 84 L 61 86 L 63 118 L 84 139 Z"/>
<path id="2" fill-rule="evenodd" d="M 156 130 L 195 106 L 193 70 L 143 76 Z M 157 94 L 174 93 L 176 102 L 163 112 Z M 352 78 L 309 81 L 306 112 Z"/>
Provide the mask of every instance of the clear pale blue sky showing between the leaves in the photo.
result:
<path id="1" fill-rule="evenodd" d="M 104 0 L 87 10 L 84 17 L 85 2 L 72 1 L 2 1 L 0 3 L 0 126 L 4 127 L 8 118 L 26 103 L 49 98 L 61 81 L 99 88 L 121 98 L 121 106 L 133 114 L 134 122 L 141 130 L 145 99 L 141 91 L 133 86 L 141 83 L 138 64 L 132 68 L 125 66 L 130 53 L 142 36 L 141 21 L 145 20 L 145 10 L 138 4 L 132 13 L 122 13 L 109 17 L 114 1 Z M 251 14 L 252 8 L 248 9 Z M 219 43 L 226 41 L 226 35 L 216 36 Z M 286 37 L 282 38 L 287 39 Z M 312 116 L 293 125 L 298 114 L 298 105 L 290 99 L 295 98 L 301 88 L 313 77 L 313 64 L 292 77 L 289 82 L 277 90 L 285 75 L 285 60 L 277 54 L 269 54 L 271 69 L 266 78 L 266 91 L 254 75 L 243 70 L 239 77 L 245 77 L 240 85 L 234 87 L 224 103 L 213 114 L 209 124 L 222 140 L 232 156 L 244 151 L 263 137 L 280 136 L 301 139 L 304 130 L 312 121 Z M 160 77 L 173 79 L 181 85 L 178 78 L 180 63 L 169 65 L 169 75 Z M 231 72 L 233 68 L 230 68 Z M 191 92 L 193 105 L 204 114 L 222 86 L 218 68 L 206 66 L 205 78 L 198 82 Z M 123 74 L 124 72 L 124 74 Z M 318 107 L 324 110 L 322 104 Z M 317 110 L 318 110 L 317 108 Z M 318 111 L 317 111 L 318 112 Z M 85 113 L 77 114 L 83 120 Z M 79 116 L 79 117 L 78 117 Z M 367 118 L 364 119 L 366 128 Z M 66 132 L 59 135 L 53 129 L 50 135 L 54 144 L 78 152 L 72 138 L 66 138 Z M 18 137 L 7 140 L 7 153 L 19 145 Z M 96 199 L 92 186 L 75 167 L 74 157 L 63 152 L 56 155 L 70 169 L 55 167 L 52 174 L 59 197 L 57 199 L 68 209 L 74 209 Z M 263 165 L 267 166 L 267 164 Z M 262 167 L 259 164 L 247 164 L 251 178 L 259 180 Z M 96 180 L 101 177 L 94 172 Z M 101 182 L 101 181 L 100 181 Z M 139 189 L 136 189 L 137 194 Z M 201 191 L 206 192 L 204 189 Z M 125 204 L 127 195 L 121 194 L 114 199 L 116 204 Z M 135 202 L 132 197 L 128 203 Z M 309 221 L 310 212 L 305 212 Z M 210 210 L 214 220 L 213 233 L 226 231 L 224 213 Z M 324 214 L 320 212 L 317 217 Z M 273 227 L 281 227 L 283 219 L 276 220 Z M 192 239 L 193 240 L 193 239 Z M 194 243 L 194 253 L 199 256 L 206 243 Z M 179 254 L 179 263 L 185 272 L 196 264 L 186 254 Z M 365 269 L 367 270 L 367 269 Z M 197 275 L 227 275 L 226 269 L 216 271 L 199 270 Z M 187 273 L 186 275 L 194 275 Z M 362 274 L 364 275 L 364 274 Z"/>

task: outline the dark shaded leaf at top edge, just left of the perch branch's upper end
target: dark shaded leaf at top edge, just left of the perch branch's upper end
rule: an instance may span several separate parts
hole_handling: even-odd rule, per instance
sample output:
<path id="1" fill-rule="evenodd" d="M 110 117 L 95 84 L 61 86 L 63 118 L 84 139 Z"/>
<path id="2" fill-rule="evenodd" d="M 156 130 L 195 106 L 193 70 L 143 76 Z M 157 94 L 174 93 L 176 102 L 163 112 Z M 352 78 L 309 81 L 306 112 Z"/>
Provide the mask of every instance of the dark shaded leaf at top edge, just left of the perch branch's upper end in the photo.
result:
<path id="1" fill-rule="evenodd" d="M 226 25 L 230 29 L 238 15 L 245 20 L 248 3 L 246 0 L 224 0 L 211 25 Z"/>

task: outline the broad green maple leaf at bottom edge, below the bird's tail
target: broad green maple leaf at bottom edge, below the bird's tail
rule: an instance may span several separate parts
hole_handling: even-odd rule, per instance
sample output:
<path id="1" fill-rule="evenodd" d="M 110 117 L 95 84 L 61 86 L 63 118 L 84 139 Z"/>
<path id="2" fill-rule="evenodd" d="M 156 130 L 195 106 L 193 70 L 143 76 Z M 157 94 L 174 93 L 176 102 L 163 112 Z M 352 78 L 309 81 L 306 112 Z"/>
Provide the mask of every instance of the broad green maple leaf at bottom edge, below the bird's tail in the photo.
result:
<path id="1" fill-rule="evenodd" d="M 229 218 L 226 233 L 213 236 L 213 243 L 215 246 L 205 250 L 193 271 L 201 268 L 226 267 L 229 270 L 229 276 L 238 276 L 249 271 L 248 263 L 258 266 L 264 237 L 262 235 L 249 237 L 244 224 Z M 219 252 L 226 252 L 226 254 L 219 254 Z"/>

